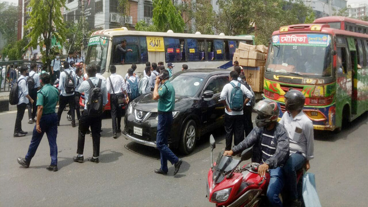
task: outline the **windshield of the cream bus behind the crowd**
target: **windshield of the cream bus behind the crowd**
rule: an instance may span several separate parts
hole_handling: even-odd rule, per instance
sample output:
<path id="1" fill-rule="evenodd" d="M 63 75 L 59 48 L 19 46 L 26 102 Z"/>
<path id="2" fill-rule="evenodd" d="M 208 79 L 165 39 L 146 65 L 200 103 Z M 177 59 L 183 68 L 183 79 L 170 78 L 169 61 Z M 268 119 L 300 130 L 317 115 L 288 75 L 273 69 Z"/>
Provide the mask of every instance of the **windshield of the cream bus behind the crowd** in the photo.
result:
<path id="1" fill-rule="evenodd" d="M 106 37 L 98 36 L 89 38 L 86 64 L 96 64 L 101 67 L 101 71 L 105 71 L 108 46 L 109 41 Z"/>

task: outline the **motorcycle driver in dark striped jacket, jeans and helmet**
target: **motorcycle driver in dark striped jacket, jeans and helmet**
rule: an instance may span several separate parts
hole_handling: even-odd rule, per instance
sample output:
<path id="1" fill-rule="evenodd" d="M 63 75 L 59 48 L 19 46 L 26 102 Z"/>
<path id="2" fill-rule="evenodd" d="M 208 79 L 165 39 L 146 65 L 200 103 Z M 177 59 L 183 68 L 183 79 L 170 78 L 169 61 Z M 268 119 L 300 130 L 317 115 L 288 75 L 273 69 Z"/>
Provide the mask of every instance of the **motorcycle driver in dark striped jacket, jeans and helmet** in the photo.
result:
<path id="1" fill-rule="evenodd" d="M 253 145 L 252 162 L 260 163 L 259 176 L 270 169 L 270 184 L 267 198 L 272 206 L 282 206 L 279 194 L 284 185 L 282 166 L 289 157 L 289 136 L 285 127 L 277 123 L 279 107 L 271 100 L 259 101 L 254 110 L 257 112 L 256 126 L 249 135 L 232 150 L 223 155 L 236 155 Z"/>

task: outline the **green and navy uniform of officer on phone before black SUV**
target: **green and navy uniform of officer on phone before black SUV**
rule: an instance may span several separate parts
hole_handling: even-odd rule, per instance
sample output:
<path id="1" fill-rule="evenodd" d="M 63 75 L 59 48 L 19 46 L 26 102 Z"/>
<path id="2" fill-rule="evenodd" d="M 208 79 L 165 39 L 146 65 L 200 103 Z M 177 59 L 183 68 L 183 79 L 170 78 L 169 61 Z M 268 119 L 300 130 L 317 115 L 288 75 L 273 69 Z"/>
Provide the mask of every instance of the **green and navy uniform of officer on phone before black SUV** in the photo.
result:
<path id="1" fill-rule="evenodd" d="M 173 124 L 173 110 L 175 107 L 175 90 L 169 80 L 158 88 L 158 123 L 156 146 L 161 155 L 161 170 L 168 172 L 168 160 L 171 164 L 179 161 L 179 158 L 168 146 L 168 135 Z"/>

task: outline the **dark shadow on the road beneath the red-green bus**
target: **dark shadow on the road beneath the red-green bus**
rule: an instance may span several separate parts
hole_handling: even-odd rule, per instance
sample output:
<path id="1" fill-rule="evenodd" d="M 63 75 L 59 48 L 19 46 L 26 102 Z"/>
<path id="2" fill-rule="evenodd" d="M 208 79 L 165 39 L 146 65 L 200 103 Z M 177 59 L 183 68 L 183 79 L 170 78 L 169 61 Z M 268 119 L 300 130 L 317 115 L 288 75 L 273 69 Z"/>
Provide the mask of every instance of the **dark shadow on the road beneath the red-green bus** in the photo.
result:
<path id="1" fill-rule="evenodd" d="M 357 130 L 360 126 L 367 125 L 367 121 L 368 121 L 368 112 L 365 112 L 348 125 L 343 126 L 343 129 L 340 133 L 314 130 L 314 139 L 319 141 L 330 141 L 330 142 L 338 141 L 340 139 L 347 139 L 348 135 Z"/>

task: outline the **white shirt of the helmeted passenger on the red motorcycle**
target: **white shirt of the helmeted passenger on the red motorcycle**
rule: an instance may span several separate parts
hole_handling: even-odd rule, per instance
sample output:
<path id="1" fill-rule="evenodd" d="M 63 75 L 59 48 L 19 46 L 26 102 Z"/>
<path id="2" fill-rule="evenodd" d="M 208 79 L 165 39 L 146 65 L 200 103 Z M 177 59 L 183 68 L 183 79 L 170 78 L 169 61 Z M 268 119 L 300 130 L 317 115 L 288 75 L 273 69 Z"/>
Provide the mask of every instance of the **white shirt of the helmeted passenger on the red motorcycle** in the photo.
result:
<path id="1" fill-rule="evenodd" d="M 300 111 L 293 118 L 291 114 L 285 112 L 279 123 L 284 125 L 289 134 L 290 155 L 299 152 L 307 160 L 313 159 L 313 123 L 308 116 L 303 111 Z"/>

